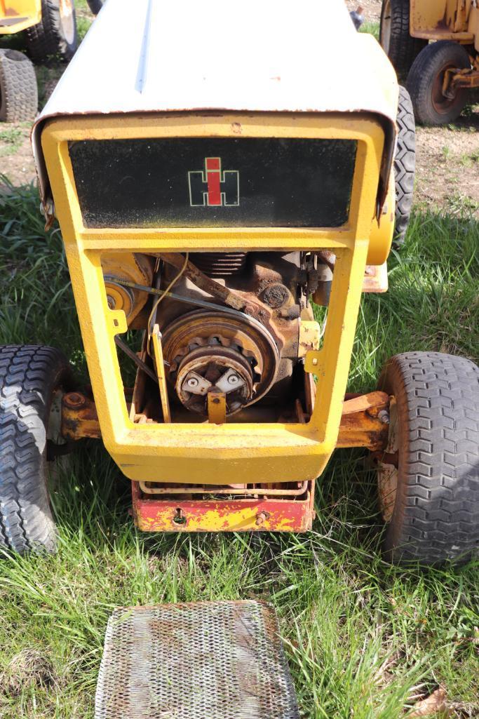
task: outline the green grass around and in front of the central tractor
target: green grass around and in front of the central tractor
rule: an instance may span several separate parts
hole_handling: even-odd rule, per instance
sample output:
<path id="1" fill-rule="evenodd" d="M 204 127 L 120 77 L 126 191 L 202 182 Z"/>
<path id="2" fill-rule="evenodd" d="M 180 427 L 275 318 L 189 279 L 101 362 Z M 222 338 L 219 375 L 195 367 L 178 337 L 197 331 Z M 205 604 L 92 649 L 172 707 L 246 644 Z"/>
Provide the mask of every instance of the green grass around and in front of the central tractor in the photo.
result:
<path id="1" fill-rule="evenodd" d="M 414 216 L 389 293 L 362 301 L 351 390 L 374 388 L 396 352 L 477 360 L 478 247 L 467 208 Z M 85 377 L 60 234 L 44 232 L 33 188 L 0 199 L 0 273 L 0 342 L 57 345 Z M 337 452 L 305 536 L 150 536 L 132 527 L 127 482 L 101 444 L 86 443 L 54 482 L 58 554 L 0 563 L 2 718 L 91 718 L 114 606 L 249 597 L 278 610 L 303 718 L 396 719 L 439 684 L 456 717 L 477 717 L 478 564 L 383 562 L 364 460 Z"/>

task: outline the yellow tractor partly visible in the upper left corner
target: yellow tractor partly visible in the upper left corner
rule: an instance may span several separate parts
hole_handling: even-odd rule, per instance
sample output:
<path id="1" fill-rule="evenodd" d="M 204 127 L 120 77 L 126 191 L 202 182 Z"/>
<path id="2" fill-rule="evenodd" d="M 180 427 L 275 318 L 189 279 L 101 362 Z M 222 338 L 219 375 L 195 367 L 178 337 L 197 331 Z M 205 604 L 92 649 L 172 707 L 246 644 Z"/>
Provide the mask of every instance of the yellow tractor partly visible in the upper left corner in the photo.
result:
<path id="1" fill-rule="evenodd" d="M 0 36 L 24 32 L 30 58 L 70 60 L 76 51 L 73 0 L 0 0 Z M 27 55 L 0 48 L 0 121 L 32 121 L 37 114 L 37 78 Z"/>

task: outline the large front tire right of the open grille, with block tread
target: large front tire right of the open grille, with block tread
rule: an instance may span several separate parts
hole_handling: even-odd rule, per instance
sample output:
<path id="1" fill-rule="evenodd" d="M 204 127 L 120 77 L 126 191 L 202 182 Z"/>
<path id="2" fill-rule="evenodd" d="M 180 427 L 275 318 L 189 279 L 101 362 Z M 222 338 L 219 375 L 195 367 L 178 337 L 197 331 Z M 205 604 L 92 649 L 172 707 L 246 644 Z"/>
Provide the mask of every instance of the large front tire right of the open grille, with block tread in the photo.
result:
<path id="1" fill-rule="evenodd" d="M 470 559 L 479 548 L 478 367 L 439 352 L 397 354 L 379 388 L 392 397 L 388 461 L 378 463 L 388 559 Z"/>

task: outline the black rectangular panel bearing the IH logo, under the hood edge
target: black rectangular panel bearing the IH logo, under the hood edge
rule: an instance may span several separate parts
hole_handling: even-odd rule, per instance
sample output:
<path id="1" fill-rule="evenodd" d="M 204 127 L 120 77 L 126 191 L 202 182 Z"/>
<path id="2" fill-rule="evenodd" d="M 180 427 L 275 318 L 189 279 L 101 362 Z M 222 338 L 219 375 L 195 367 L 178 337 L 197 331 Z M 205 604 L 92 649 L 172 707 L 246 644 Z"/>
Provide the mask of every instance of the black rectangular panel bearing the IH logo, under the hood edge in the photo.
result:
<path id="1" fill-rule="evenodd" d="M 357 143 L 173 138 L 70 142 L 87 227 L 338 227 Z"/>

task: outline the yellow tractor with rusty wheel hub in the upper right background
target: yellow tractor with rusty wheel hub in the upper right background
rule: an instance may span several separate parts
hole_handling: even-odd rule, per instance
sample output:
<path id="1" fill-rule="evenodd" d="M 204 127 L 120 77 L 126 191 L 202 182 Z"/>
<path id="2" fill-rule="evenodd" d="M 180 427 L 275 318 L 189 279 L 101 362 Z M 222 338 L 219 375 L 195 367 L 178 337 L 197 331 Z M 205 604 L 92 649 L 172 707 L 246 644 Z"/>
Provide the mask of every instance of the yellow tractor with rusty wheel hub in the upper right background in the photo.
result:
<path id="1" fill-rule="evenodd" d="M 453 122 L 472 101 L 479 88 L 476 0 L 383 0 L 380 43 L 398 77 L 407 78 L 419 122 Z"/>

